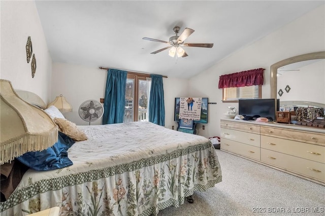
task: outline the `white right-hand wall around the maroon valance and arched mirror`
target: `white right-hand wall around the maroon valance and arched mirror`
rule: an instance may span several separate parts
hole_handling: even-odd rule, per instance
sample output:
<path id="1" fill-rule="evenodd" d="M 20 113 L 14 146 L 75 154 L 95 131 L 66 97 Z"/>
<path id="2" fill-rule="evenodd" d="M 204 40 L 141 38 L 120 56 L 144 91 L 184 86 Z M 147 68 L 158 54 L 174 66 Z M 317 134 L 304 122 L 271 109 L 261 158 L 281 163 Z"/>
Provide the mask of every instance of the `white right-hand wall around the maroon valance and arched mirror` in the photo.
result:
<path id="1" fill-rule="evenodd" d="M 238 103 L 222 103 L 222 89 L 218 89 L 219 76 L 243 70 L 265 68 L 262 97 L 270 98 L 270 66 L 282 59 L 305 53 L 325 50 L 325 8 L 320 6 L 305 16 L 289 23 L 267 37 L 250 44 L 217 62 L 189 80 L 191 95 L 202 93 L 209 97 L 209 123 L 199 134 L 211 137 L 220 135 L 220 118 L 228 106 L 238 108 Z M 239 35 L 240 37 L 240 35 Z"/>

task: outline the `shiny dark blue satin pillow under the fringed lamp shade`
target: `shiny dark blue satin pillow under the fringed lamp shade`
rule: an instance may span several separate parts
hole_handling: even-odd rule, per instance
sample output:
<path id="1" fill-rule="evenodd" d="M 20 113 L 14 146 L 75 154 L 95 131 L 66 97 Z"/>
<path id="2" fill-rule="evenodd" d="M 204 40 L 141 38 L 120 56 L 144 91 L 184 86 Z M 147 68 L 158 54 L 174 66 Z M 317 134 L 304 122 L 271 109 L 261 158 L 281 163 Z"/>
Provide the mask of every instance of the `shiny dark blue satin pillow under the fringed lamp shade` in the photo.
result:
<path id="1" fill-rule="evenodd" d="M 41 152 L 27 152 L 16 159 L 29 168 L 39 171 L 71 166 L 73 162 L 68 158 L 68 149 L 74 143 L 75 141 L 69 136 L 59 132 L 57 142 L 52 147 Z"/>

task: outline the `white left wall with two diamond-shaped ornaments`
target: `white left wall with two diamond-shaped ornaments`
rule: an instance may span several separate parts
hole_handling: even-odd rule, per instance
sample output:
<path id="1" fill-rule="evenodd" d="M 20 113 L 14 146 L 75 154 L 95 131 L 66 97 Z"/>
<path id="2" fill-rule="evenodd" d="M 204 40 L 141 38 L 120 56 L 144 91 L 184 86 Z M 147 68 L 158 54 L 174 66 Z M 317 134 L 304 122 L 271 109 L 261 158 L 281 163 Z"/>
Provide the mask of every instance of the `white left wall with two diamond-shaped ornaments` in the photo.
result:
<path id="1" fill-rule="evenodd" d="M 50 100 L 52 59 L 34 1 L 0 1 L 1 7 L 1 79 L 11 81 L 15 89 L 38 94 Z M 31 77 L 26 61 L 26 43 L 31 37 L 36 57 L 36 74 Z"/>

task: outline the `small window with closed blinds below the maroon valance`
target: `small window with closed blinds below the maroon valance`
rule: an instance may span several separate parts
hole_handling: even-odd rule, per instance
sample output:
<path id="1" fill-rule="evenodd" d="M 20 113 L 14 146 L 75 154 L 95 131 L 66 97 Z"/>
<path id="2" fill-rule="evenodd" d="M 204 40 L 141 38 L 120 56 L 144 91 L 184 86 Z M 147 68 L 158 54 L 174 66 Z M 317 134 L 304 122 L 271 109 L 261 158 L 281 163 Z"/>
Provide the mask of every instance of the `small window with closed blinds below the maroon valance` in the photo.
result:
<path id="1" fill-rule="evenodd" d="M 223 102 L 234 102 L 242 98 L 262 98 L 262 85 L 222 89 Z"/>

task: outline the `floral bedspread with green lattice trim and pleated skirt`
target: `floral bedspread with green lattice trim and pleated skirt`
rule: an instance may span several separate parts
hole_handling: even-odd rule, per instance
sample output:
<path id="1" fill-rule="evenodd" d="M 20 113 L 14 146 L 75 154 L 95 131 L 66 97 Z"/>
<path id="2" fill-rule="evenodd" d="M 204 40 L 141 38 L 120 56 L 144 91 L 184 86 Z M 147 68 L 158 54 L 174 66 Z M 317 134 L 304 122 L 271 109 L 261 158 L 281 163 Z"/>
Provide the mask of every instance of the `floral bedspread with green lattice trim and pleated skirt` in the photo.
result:
<path id="1" fill-rule="evenodd" d="M 222 180 L 215 150 L 205 137 L 150 122 L 78 127 L 88 140 L 70 148 L 74 164 L 51 171 L 29 169 L 1 203 L 2 215 L 54 206 L 62 216 L 155 215 Z"/>

